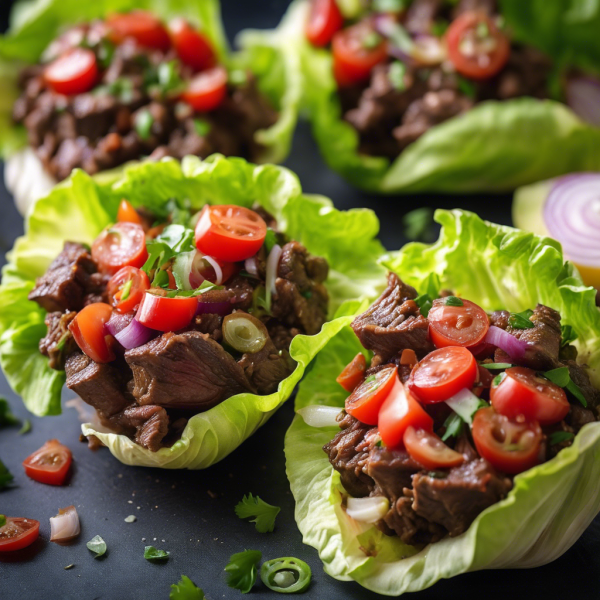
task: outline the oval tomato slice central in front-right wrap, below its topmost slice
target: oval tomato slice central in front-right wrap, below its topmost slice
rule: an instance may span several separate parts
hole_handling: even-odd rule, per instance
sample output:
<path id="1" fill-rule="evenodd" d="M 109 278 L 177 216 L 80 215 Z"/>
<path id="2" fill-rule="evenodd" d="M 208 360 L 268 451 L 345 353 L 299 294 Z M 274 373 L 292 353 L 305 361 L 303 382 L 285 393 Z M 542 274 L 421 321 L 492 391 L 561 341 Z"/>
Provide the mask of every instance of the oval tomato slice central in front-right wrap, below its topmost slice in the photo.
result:
<path id="1" fill-rule="evenodd" d="M 421 402 L 444 402 L 477 378 L 475 357 L 461 346 L 448 346 L 428 354 L 413 370 L 408 389 Z"/>

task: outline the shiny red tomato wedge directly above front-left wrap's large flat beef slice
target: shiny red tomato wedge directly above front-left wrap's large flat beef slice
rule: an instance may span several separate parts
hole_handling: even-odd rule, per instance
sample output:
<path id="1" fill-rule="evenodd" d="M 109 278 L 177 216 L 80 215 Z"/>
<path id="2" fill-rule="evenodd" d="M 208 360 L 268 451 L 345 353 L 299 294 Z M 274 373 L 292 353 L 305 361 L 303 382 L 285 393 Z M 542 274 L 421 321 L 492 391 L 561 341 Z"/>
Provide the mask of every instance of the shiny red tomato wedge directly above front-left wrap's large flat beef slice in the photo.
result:
<path id="1" fill-rule="evenodd" d="M 179 331 L 187 327 L 196 314 L 198 298 L 167 298 L 157 293 L 164 293 L 164 290 L 146 292 L 136 319 L 142 325 L 157 331 Z"/>

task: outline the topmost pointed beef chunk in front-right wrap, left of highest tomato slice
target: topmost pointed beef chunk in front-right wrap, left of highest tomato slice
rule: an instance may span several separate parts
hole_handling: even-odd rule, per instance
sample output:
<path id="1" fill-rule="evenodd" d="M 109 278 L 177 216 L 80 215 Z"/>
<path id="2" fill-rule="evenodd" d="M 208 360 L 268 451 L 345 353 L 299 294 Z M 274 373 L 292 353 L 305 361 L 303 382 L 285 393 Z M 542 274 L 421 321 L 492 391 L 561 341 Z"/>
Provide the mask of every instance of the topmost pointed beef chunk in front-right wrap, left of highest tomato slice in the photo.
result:
<path id="1" fill-rule="evenodd" d="M 382 362 L 411 348 L 422 358 L 433 350 L 427 339 L 429 325 L 414 298 L 417 292 L 394 273 L 381 296 L 362 315 L 354 319 L 352 329 L 361 344 L 373 350 Z"/>

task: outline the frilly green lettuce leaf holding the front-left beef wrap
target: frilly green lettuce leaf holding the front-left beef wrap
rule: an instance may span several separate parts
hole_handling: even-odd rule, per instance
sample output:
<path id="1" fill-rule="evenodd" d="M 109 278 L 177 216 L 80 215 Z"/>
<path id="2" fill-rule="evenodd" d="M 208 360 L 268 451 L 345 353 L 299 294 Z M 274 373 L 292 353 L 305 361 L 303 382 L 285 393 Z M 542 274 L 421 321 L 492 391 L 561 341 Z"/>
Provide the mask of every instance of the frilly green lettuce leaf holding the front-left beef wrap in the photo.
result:
<path id="1" fill-rule="evenodd" d="M 302 195 L 297 177 L 287 169 L 213 155 L 205 161 L 188 157 L 182 164 L 164 159 L 132 165 L 112 184 L 99 183 L 76 170 L 32 208 L 26 234 L 10 252 L 0 286 L 0 364 L 11 387 L 35 415 L 60 414 L 65 374 L 52 370 L 38 350 L 46 335 L 46 313 L 27 295 L 66 240 L 90 244 L 116 220 L 122 198 L 157 215 L 166 215 L 173 198 L 189 201 L 194 210 L 206 203 L 250 207 L 258 202 L 277 219 L 281 231 L 329 262 L 330 316 L 344 301 L 379 293 L 383 269 L 376 259 L 383 248 L 375 239 L 379 231 L 375 214 L 366 209 L 337 211 L 326 198 Z M 195 415 L 170 448 L 151 452 L 123 435 L 98 431 L 90 423 L 83 426 L 83 432 L 97 436 L 126 464 L 208 467 L 267 421 L 291 395 L 317 352 L 349 319 L 328 322 L 318 335 L 299 335 L 293 340 L 290 354 L 298 365 L 276 393 L 239 394 Z"/>

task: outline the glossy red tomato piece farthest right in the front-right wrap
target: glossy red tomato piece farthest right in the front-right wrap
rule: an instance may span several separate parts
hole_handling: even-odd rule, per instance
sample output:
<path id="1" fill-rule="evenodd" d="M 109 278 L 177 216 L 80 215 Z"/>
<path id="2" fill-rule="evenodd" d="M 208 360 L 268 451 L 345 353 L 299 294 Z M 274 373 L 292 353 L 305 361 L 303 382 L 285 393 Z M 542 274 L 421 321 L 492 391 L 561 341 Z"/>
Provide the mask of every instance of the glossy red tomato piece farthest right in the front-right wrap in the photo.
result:
<path id="1" fill-rule="evenodd" d="M 567 416 L 569 400 L 561 387 L 525 367 L 511 367 L 505 373 L 500 383 L 494 379 L 490 389 L 492 406 L 501 415 L 510 419 L 523 415 L 540 425 L 552 425 Z"/>

